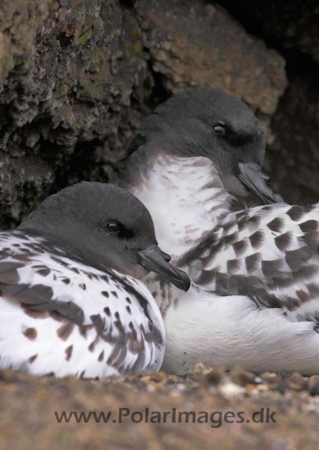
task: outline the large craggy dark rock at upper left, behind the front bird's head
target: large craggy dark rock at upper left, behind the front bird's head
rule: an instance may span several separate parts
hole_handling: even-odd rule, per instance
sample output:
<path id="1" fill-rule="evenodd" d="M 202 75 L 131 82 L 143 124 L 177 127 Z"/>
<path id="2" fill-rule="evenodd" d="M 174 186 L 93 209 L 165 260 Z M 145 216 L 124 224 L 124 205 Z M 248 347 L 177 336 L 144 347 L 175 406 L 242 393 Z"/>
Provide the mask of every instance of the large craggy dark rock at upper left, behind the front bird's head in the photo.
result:
<path id="1" fill-rule="evenodd" d="M 149 72 L 137 20 L 117 1 L 4 0 L 0 27 L 6 224 L 79 178 L 113 180 Z"/>

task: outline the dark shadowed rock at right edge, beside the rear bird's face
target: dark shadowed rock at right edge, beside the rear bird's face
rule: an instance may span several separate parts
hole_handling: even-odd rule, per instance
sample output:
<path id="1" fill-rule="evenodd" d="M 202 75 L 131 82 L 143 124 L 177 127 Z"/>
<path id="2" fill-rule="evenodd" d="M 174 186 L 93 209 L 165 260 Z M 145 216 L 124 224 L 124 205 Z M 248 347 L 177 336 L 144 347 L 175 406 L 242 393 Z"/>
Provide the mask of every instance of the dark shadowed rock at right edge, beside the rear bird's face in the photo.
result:
<path id="1" fill-rule="evenodd" d="M 296 205 L 319 200 L 319 65 L 307 68 L 292 77 L 273 116 L 265 161 L 276 190 Z"/>

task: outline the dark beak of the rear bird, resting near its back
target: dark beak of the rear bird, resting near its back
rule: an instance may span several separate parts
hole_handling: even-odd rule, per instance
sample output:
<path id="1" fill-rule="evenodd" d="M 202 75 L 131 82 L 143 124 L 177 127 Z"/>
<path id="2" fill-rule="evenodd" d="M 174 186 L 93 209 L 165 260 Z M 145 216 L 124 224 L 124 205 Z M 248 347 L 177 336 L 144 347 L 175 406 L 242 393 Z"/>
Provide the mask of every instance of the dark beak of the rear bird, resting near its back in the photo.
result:
<path id="1" fill-rule="evenodd" d="M 265 205 L 268 203 L 281 203 L 283 198 L 280 194 L 275 193 L 266 181 L 269 180 L 269 176 L 261 171 L 261 168 L 254 162 L 239 162 L 239 175 L 238 178 L 244 185 L 249 188 L 249 191 L 254 193 Z"/>

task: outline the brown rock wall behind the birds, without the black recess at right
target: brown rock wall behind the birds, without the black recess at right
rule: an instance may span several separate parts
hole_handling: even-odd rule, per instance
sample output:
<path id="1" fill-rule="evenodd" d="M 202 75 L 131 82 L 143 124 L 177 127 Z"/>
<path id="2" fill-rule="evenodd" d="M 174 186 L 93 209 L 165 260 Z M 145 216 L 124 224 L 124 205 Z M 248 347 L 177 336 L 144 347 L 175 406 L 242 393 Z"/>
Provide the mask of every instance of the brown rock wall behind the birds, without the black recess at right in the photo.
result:
<path id="1" fill-rule="evenodd" d="M 275 51 L 201 1 L 3 0 L 0 224 L 80 179 L 116 182 L 141 117 L 172 92 L 221 86 L 267 129 L 285 84 Z"/>

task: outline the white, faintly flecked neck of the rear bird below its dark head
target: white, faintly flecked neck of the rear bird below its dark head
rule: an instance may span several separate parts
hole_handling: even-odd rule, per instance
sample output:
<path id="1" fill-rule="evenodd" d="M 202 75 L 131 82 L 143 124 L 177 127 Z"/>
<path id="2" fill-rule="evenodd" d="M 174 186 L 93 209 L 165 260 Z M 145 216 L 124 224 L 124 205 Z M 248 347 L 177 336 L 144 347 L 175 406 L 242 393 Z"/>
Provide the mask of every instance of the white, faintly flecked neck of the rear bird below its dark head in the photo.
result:
<path id="1" fill-rule="evenodd" d="M 230 212 L 234 198 L 208 158 L 136 156 L 128 161 L 121 186 L 148 208 L 158 244 L 177 262 Z"/>

